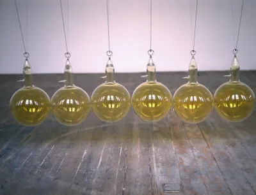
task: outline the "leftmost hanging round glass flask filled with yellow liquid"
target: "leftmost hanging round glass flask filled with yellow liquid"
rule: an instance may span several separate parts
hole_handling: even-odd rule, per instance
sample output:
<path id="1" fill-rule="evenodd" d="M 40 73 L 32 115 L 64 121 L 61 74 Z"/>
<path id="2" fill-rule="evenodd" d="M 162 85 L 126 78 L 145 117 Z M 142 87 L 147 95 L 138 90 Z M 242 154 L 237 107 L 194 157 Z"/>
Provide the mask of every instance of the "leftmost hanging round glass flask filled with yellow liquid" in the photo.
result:
<path id="1" fill-rule="evenodd" d="M 24 87 L 17 90 L 10 100 L 13 117 L 24 126 L 36 126 L 48 116 L 51 104 L 44 90 L 33 85 L 33 75 L 28 58 L 23 67 Z"/>

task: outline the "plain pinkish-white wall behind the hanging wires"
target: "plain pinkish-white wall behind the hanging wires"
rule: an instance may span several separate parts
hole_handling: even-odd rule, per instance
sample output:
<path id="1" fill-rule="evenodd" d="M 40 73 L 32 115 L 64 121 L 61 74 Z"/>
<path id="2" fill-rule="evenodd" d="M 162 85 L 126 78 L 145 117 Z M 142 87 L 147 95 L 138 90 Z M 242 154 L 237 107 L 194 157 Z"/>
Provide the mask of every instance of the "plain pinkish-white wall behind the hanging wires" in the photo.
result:
<path id="1" fill-rule="evenodd" d="M 17 0 L 34 73 L 62 73 L 65 42 L 58 0 Z M 63 1 L 67 24 L 67 0 Z M 234 6 L 232 25 L 231 1 Z M 109 0 L 110 36 L 116 72 L 146 71 L 148 0 Z M 195 0 L 191 1 L 195 8 Z M 199 0 L 196 61 L 199 70 L 229 69 L 241 0 Z M 237 55 L 241 69 L 256 69 L 256 1 L 245 0 Z M 195 9 L 192 10 L 195 15 Z M 190 60 L 189 0 L 153 0 L 152 48 L 157 71 L 186 71 Z M 194 17 L 193 17 L 194 18 Z M 108 34 L 105 0 L 69 0 L 70 61 L 77 73 L 104 72 Z M 26 36 L 25 36 L 26 41 Z M 24 50 L 14 0 L 0 0 L 0 73 L 22 73 Z"/>

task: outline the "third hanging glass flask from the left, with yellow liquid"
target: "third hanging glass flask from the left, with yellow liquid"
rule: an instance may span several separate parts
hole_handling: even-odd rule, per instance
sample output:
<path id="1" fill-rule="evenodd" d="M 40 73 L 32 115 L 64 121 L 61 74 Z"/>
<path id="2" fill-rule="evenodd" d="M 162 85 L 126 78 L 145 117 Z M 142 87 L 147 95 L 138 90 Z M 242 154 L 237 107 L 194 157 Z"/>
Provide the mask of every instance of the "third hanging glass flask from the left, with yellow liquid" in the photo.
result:
<path id="1" fill-rule="evenodd" d="M 106 82 L 99 85 L 92 94 L 92 108 L 95 115 L 105 122 L 118 122 L 129 112 L 130 94 L 125 87 L 114 80 L 115 69 L 109 57 L 106 64 Z"/>

